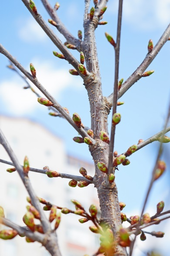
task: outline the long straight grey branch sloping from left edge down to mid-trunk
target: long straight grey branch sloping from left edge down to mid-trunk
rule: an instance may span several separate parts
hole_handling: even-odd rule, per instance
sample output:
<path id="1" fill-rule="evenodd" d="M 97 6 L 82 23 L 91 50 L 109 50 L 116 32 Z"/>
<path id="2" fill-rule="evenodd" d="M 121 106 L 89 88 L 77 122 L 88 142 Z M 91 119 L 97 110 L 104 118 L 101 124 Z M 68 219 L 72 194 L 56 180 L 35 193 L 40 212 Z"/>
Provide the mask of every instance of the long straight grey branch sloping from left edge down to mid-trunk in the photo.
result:
<path id="1" fill-rule="evenodd" d="M 81 127 L 78 128 L 75 123 L 73 122 L 71 116 L 64 110 L 63 107 L 54 99 L 53 96 L 38 82 L 37 78 L 33 78 L 32 75 L 0 44 L 0 53 L 5 55 L 17 68 L 50 100 L 54 103 L 53 107 L 60 112 L 65 119 L 75 128 L 75 130 L 82 135 L 82 137 L 88 137 L 93 144 L 95 144 L 95 140 L 92 139 L 87 132 Z"/>

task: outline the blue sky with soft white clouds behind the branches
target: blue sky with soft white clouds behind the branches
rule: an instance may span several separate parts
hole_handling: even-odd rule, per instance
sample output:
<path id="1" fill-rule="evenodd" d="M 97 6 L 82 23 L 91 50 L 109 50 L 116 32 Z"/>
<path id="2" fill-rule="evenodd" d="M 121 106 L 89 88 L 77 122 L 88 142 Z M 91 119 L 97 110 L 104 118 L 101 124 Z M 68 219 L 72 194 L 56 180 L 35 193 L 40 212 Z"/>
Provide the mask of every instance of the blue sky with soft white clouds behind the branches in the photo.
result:
<path id="1" fill-rule="evenodd" d="M 55 4 L 53 0 L 50 2 L 52 5 Z M 38 12 L 47 21 L 49 16 L 41 1 L 37 0 L 35 3 Z M 60 4 L 59 17 L 71 33 L 77 36 L 79 29 L 83 31 L 84 1 L 65 0 Z M 98 26 L 95 32 L 104 96 L 112 93 L 114 81 L 114 50 L 105 39 L 104 33 L 108 32 L 116 38 L 117 9 L 117 1 L 109 0 L 108 9 L 103 18 L 103 21 L 108 21 L 108 24 Z M 170 22 L 169 14 L 170 0 L 124 1 L 119 78 L 124 78 L 125 81 L 143 61 L 150 39 L 156 45 Z M 0 22 L 3 24 L 0 43 L 28 70 L 29 64 L 33 63 L 37 70 L 37 78 L 42 85 L 51 92 L 61 106 L 68 108 L 70 114 L 77 112 L 83 124 L 90 126 L 88 96 L 82 79 L 71 76 L 68 72 L 72 68 L 71 65 L 65 60 L 54 57 L 52 51 L 58 51 L 58 49 L 38 27 L 22 1 L 3 1 Z M 64 37 L 54 27 L 49 26 L 64 43 Z M 76 50 L 71 50 L 71 53 L 79 59 L 79 53 Z M 139 139 L 147 139 L 163 129 L 170 97 L 169 60 L 170 41 L 163 46 L 156 59 L 147 68 L 147 70 L 155 70 L 153 75 L 140 79 L 120 99 L 125 101 L 125 104 L 118 107 L 122 115 L 122 120 L 116 127 L 115 150 L 118 153 L 125 152 Z M 77 136 L 77 132 L 65 120 L 49 116 L 48 110 L 37 103 L 36 96 L 31 91 L 22 89 L 25 83 L 14 72 L 6 68 L 7 64 L 8 60 L 0 56 L 0 114 L 28 117 L 41 123 L 64 140 L 67 153 L 92 161 L 88 146 L 73 142 L 72 138 Z M 109 130 L 110 119 L 111 116 L 109 117 Z M 116 173 L 119 200 L 126 201 L 125 213 L 127 214 L 137 214 L 141 209 L 158 146 L 158 142 L 153 142 L 140 149 L 130 157 L 131 164 L 127 167 L 120 167 Z M 163 158 L 166 159 L 168 167 L 170 167 L 169 153 L 170 146 L 165 145 Z M 148 210 L 152 206 L 156 207 L 161 200 L 167 201 L 165 210 L 169 209 L 170 174 L 168 169 L 154 185 Z M 136 212 L 133 213 L 135 210 Z M 157 242 L 157 240 L 154 241 Z M 161 239 L 160 242 L 162 243 L 163 240 Z M 164 255 L 166 255 L 166 249 L 164 250 Z"/>

